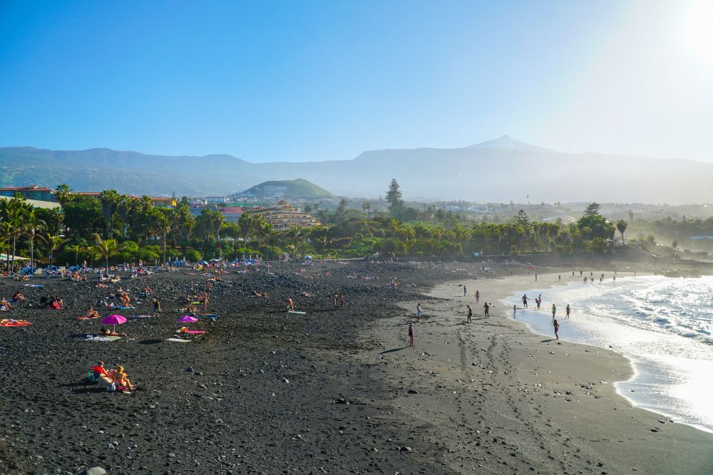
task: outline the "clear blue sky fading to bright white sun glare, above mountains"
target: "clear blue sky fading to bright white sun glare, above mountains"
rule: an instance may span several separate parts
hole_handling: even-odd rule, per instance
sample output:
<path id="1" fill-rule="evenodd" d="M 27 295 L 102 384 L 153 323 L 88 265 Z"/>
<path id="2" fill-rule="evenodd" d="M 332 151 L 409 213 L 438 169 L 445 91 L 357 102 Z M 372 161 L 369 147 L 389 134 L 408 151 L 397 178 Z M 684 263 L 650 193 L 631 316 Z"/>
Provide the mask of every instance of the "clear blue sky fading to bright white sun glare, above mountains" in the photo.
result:
<path id="1" fill-rule="evenodd" d="M 0 0 L 0 146 L 713 161 L 713 0 Z"/>

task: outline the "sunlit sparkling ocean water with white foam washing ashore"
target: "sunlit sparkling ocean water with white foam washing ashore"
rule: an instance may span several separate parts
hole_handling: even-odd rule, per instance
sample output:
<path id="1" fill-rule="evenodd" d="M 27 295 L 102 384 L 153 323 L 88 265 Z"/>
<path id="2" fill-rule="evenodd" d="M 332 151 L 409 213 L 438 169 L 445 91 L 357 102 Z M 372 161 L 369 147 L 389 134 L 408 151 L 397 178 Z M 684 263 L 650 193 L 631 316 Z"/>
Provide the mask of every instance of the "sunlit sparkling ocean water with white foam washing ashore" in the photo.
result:
<path id="1" fill-rule="evenodd" d="M 520 307 L 522 295 L 503 304 Z M 603 283 L 597 276 L 593 284 L 578 280 L 536 289 L 528 297 L 530 308 L 518 309 L 516 320 L 553 335 L 555 303 L 560 340 L 611 349 L 632 362 L 633 377 L 616 383 L 620 395 L 637 407 L 713 432 L 713 276 L 640 276 L 614 283 L 608 274 Z M 566 319 L 568 304 L 572 313 Z"/>

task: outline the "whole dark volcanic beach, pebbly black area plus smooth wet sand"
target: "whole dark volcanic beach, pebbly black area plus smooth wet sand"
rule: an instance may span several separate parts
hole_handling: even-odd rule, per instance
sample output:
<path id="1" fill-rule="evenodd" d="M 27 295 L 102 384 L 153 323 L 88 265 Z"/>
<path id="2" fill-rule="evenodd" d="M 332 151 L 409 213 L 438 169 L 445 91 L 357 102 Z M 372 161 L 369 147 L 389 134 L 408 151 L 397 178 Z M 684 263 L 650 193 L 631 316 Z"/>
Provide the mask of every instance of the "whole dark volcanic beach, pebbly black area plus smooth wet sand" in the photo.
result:
<path id="1" fill-rule="evenodd" d="M 498 301 L 534 284 L 524 273 L 408 263 L 229 273 L 213 283 L 208 313 L 219 318 L 196 323 L 207 337 L 191 343 L 165 341 L 182 315 L 170 310 L 207 276 L 175 272 L 108 289 L 0 281 L 2 296 L 59 295 L 68 307 L 1 315 L 33 325 L 0 328 L 0 473 L 709 473 L 710 434 L 662 424 L 615 394 L 612 382 L 630 372 L 624 358 L 543 341 L 508 317 Z M 478 288 L 481 301 L 496 303 L 491 318 L 473 307 L 466 325 L 462 288 L 444 284 L 453 281 L 468 285 L 466 300 Z M 88 305 L 116 313 L 99 308 L 109 293 L 145 285 L 161 299 L 160 318 L 121 325 L 130 340 L 83 340 L 101 325 L 74 317 Z M 332 304 L 337 291 L 344 310 Z M 307 315 L 285 313 L 287 297 Z M 416 301 L 425 316 L 416 348 L 403 348 Z M 121 314 L 150 310 L 143 299 Z M 85 385 L 100 359 L 124 365 L 139 389 Z"/>

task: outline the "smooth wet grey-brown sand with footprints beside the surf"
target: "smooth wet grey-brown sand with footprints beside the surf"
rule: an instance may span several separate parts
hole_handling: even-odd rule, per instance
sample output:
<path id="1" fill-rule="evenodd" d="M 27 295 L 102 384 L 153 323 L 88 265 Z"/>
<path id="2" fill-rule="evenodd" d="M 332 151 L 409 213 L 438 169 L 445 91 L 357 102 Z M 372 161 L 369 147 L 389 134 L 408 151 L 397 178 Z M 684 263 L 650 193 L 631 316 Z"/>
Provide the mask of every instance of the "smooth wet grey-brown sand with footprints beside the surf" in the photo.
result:
<path id="1" fill-rule="evenodd" d="M 515 459 L 517 466 L 541 473 L 582 469 L 593 473 L 712 471 L 713 456 L 708 447 L 713 434 L 663 420 L 664 416 L 634 406 L 617 391 L 615 381 L 630 380 L 635 375 L 631 360 L 593 345 L 543 340 L 526 323 L 513 320 L 511 308 L 501 303 L 513 299 L 516 292 L 571 281 L 567 278 L 560 283 L 557 276 L 540 274 L 536 283 L 532 276 L 511 276 L 432 286 L 426 292 L 432 300 L 421 301 L 424 318 L 414 324 L 416 348 L 398 348 L 394 344 L 397 340 L 391 339 L 396 348 L 389 348 L 386 342 L 384 352 L 379 353 L 391 361 L 381 382 L 388 387 L 398 381 L 401 389 L 408 383 L 418 392 L 406 395 L 396 407 L 409 414 L 423 413 L 419 419 L 436 425 L 444 439 L 460 441 L 475 436 L 475 444 L 465 444 L 444 455 L 446 464 L 459 473 L 483 469 L 511 473 L 504 470 L 501 461 L 512 465 Z M 617 278 L 620 276 L 623 273 L 617 273 Z M 467 285 L 466 298 L 458 283 Z M 469 325 L 465 323 L 465 306 L 474 302 L 476 288 L 481 293 L 481 306 L 484 301 L 496 305 L 487 320 L 481 315 L 481 307 L 471 305 L 473 323 Z M 415 322 L 416 301 L 400 306 L 405 310 L 403 315 L 377 322 L 365 337 L 373 340 L 374 334 L 405 329 L 404 323 Z M 364 359 L 373 362 L 374 357 L 379 360 L 376 355 Z M 428 386 L 417 387 L 424 383 L 418 373 L 424 372 L 438 383 L 435 391 Z M 419 402 L 411 401 L 416 399 Z M 468 400 L 471 404 L 483 403 L 475 418 L 466 409 L 471 407 Z M 486 430 L 483 424 L 487 424 Z M 626 449 L 622 451 L 624 442 Z M 503 444 L 512 451 L 503 453 Z M 527 450 L 523 453 L 519 448 Z M 463 461 L 473 466 L 468 468 Z"/>

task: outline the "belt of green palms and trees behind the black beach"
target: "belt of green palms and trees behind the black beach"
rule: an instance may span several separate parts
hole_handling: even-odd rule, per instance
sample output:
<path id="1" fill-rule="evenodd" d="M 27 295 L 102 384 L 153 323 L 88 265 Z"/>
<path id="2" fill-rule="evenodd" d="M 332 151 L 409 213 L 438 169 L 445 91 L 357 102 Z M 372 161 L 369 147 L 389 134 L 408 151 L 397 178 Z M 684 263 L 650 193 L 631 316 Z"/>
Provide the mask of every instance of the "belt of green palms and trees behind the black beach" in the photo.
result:
<path id="1" fill-rule="evenodd" d="M 523 210 L 501 223 L 472 221 L 436 207 L 407 207 L 396 180 L 389 185 L 389 212 L 374 211 L 371 204 L 349 209 L 342 199 L 336 209 L 309 207 L 324 224 L 316 228 L 291 228 L 278 233 L 265 219 L 244 214 L 237 224 L 226 223 L 220 212 L 188 212 L 188 199 L 173 208 L 155 207 L 148 197 L 136 199 L 106 190 L 98 198 L 73 194 L 57 187 L 61 210 L 34 209 L 20 197 L 0 202 L 0 250 L 10 255 L 32 256 L 46 263 L 83 260 L 110 265 L 116 262 L 165 262 L 185 257 L 190 261 L 242 254 L 310 254 L 315 257 L 364 257 L 396 254 L 429 259 L 456 259 L 477 254 L 614 252 L 615 231 L 623 234 L 627 223 L 615 224 L 588 206 L 573 224 L 535 221 Z M 713 220 L 708 223 L 713 234 Z M 622 239 L 623 240 L 623 239 Z M 651 248 L 650 239 L 630 244 Z M 11 258 L 6 265 L 11 266 Z"/>

